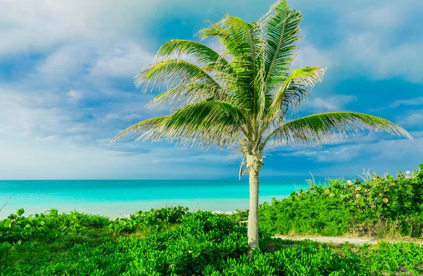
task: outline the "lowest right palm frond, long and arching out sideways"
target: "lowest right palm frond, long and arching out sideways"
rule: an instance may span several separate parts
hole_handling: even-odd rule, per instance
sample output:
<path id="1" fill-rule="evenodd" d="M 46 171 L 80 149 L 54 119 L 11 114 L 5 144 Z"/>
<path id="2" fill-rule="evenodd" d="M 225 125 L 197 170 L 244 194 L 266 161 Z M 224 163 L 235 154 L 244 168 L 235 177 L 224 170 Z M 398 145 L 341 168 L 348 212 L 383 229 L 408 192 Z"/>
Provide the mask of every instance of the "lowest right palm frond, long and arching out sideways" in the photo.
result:
<path id="1" fill-rule="evenodd" d="M 266 140 L 273 136 L 276 144 L 321 145 L 336 142 L 338 133 L 353 136 L 363 129 L 411 138 L 405 129 L 376 116 L 356 112 L 326 112 L 290 121 L 276 128 Z"/>

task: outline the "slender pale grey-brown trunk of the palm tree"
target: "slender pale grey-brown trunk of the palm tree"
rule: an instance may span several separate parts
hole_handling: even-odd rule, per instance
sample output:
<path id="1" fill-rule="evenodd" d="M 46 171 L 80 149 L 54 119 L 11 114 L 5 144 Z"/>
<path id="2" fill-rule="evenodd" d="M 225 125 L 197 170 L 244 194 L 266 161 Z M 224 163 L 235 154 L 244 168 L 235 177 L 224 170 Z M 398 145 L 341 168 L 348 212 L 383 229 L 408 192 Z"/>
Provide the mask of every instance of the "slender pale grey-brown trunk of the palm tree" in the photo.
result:
<path id="1" fill-rule="evenodd" d="M 250 211 L 248 213 L 248 246 L 259 249 L 259 186 L 262 160 L 254 155 L 247 156 L 250 173 Z"/>

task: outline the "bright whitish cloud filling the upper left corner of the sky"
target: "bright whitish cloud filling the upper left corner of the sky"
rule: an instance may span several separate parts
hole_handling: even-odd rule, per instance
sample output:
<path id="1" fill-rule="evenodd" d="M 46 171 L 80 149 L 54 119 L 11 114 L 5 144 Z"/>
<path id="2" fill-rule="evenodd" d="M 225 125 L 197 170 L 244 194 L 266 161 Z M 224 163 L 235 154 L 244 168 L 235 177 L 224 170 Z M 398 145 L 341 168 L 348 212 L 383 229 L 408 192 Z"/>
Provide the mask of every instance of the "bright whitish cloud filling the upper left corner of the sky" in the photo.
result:
<path id="1" fill-rule="evenodd" d="M 137 23 L 154 18 L 156 8 L 159 3 L 155 1 L 23 0 L 17 4 L 5 0 L 0 9 L 0 35 L 8 39 L 0 40 L 0 55 L 44 52 L 69 42 L 113 44 L 124 37 L 127 40 L 131 33 L 122 30 L 129 26 L 145 32 Z"/>

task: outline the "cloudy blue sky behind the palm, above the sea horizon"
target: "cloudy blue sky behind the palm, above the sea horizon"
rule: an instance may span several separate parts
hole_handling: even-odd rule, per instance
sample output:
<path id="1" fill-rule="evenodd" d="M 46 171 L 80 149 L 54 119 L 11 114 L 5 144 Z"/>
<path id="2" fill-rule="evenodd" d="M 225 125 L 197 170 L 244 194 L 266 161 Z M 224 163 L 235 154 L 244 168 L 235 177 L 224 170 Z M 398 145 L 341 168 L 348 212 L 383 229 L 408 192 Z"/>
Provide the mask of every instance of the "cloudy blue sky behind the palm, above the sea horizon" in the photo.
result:
<path id="1" fill-rule="evenodd" d="M 0 0 L 0 179 L 237 179 L 236 149 L 110 140 L 166 114 L 134 76 L 168 40 L 199 40 L 226 13 L 257 20 L 273 0 Z M 269 179 L 357 176 L 423 163 L 423 1 L 290 0 L 302 11 L 293 68 L 326 66 L 298 116 L 354 111 L 413 140 L 364 132 L 268 152 Z M 213 42 L 206 42 L 212 44 Z M 157 92 L 155 92 L 157 93 Z"/>

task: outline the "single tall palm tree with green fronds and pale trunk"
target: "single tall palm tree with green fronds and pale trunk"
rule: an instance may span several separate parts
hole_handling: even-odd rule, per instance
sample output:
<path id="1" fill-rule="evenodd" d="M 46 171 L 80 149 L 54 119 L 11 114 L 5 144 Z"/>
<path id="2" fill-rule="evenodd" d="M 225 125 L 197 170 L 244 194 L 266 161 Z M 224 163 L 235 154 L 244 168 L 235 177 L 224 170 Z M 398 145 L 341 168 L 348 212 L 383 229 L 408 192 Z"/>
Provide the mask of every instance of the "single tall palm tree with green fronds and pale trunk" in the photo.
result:
<path id="1" fill-rule="evenodd" d="M 250 174 L 248 244 L 259 248 L 259 173 L 264 150 L 278 145 L 333 143 L 337 133 L 353 135 L 361 129 L 410 135 L 385 119 L 355 112 L 326 112 L 286 120 L 321 81 L 326 68 L 291 70 L 300 40 L 299 11 L 278 1 L 253 23 L 225 16 L 200 30 L 214 37 L 221 51 L 190 40 L 171 40 L 160 47 L 154 62 L 135 78 L 144 92 L 166 87 L 150 107 L 171 104 L 171 114 L 130 126 L 137 140 L 168 140 L 183 146 L 240 149 L 240 174 Z"/>

